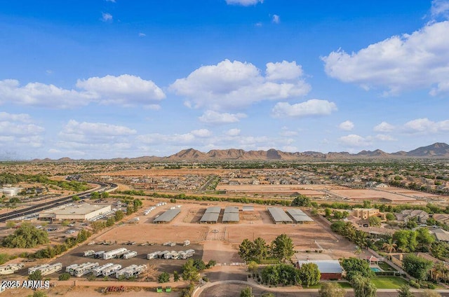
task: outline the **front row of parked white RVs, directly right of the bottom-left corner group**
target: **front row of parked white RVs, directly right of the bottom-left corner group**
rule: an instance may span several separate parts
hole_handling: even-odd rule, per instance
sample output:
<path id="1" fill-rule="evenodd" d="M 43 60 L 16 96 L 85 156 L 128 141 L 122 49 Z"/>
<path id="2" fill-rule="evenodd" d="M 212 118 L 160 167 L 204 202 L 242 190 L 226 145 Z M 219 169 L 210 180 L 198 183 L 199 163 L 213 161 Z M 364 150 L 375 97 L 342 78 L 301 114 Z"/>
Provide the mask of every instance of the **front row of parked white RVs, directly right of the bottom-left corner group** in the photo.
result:
<path id="1" fill-rule="evenodd" d="M 121 268 L 120 264 L 106 263 L 105 265 L 99 265 L 98 263 L 82 263 L 73 264 L 67 266 L 65 272 L 69 272 L 70 275 L 76 277 L 81 277 L 92 273 L 95 277 L 100 275 L 107 277 L 109 275 L 115 275 L 116 278 L 125 277 L 126 279 L 130 277 L 136 277 L 140 273 L 147 270 L 147 265 L 130 265 L 126 268 Z"/>

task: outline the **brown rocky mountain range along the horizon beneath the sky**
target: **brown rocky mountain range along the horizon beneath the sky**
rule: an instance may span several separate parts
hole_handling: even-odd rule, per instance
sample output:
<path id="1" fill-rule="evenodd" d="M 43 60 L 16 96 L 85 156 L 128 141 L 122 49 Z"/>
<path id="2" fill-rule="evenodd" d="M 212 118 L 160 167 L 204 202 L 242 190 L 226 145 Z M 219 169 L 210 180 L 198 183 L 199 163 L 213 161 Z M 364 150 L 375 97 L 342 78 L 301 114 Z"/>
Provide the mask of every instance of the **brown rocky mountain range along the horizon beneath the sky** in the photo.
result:
<path id="1" fill-rule="evenodd" d="M 274 148 L 268 151 L 243 151 L 242 149 L 214 149 L 203 153 L 194 148 L 188 148 L 175 153 L 168 157 L 144 156 L 138 158 L 114 158 L 110 159 L 114 162 L 125 161 L 147 161 L 147 162 L 177 162 L 182 160 L 198 160 L 198 161 L 214 161 L 214 160 L 351 160 L 363 158 L 379 158 L 379 159 L 397 159 L 397 158 L 449 158 L 449 145 L 441 142 L 431 144 L 430 146 L 422 146 L 413 151 L 398 151 L 396 153 L 385 153 L 380 149 L 375 151 L 361 151 L 359 153 L 347 152 L 329 152 L 319 153 L 316 151 L 304 151 L 302 153 L 288 153 L 279 151 Z M 44 159 L 33 160 L 35 162 L 59 161 L 69 162 L 73 161 L 71 158 L 60 158 L 58 160 Z"/>

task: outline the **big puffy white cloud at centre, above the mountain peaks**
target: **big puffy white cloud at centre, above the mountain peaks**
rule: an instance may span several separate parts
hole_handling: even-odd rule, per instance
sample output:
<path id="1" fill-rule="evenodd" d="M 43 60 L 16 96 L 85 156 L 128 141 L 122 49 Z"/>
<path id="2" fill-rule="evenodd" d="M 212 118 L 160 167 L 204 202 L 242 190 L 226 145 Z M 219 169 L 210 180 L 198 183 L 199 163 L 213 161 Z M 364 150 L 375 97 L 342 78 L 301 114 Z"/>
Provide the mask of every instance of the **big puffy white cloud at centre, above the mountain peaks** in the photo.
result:
<path id="1" fill-rule="evenodd" d="M 276 69 L 280 66 L 270 64 L 269 67 Z M 177 79 L 170 85 L 170 90 L 187 97 L 193 103 L 189 101 L 188 106 L 221 111 L 240 109 L 263 100 L 306 95 L 310 85 L 302 77 L 289 81 L 269 81 L 253 64 L 224 60 L 216 65 L 200 67 L 187 78 Z"/>

